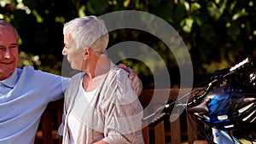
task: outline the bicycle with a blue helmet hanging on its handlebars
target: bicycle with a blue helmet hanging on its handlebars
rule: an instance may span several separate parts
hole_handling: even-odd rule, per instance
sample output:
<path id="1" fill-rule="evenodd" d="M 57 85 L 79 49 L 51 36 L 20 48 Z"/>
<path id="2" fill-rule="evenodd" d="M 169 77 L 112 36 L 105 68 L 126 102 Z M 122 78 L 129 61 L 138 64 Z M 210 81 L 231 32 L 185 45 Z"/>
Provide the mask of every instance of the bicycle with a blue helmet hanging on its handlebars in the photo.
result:
<path id="1" fill-rule="evenodd" d="M 171 116 L 174 106 L 183 107 L 188 118 L 192 118 L 189 121 L 204 124 L 196 127 L 201 128 L 199 135 L 209 143 L 241 144 L 231 133 L 240 134 L 251 143 L 256 141 L 256 71 L 252 60 L 247 58 L 230 68 L 215 70 L 211 78 L 199 85 L 204 86 L 192 89 L 177 101 L 168 100 L 142 120 L 156 125 Z M 180 102 L 191 95 L 188 103 Z"/>

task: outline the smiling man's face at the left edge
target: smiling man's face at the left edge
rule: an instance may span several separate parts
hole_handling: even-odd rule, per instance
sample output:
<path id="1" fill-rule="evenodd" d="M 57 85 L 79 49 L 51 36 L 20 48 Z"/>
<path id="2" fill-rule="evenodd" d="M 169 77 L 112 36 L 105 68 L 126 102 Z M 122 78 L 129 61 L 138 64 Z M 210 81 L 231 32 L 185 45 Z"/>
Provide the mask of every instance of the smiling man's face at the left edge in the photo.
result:
<path id="1" fill-rule="evenodd" d="M 11 28 L 0 27 L 0 80 L 8 78 L 19 60 L 18 41 Z"/>

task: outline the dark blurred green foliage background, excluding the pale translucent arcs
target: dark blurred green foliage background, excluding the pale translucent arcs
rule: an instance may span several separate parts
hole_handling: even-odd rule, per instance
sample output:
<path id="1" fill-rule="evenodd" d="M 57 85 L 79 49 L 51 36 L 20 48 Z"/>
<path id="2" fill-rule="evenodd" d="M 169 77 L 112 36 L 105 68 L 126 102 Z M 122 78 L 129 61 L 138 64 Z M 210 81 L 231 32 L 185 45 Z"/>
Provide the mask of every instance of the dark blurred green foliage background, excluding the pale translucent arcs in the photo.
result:
<path id="1" fill-rule="evenodd" d="M 255 4 L 253 0 L 1 0 L 0 18 L 12 23 L 20 34 L 19 67 L 34 66 L 61 75 L 65 22 L 119 10 L 148 12 L 166 20 L 183 38 L 193 63 L 194 84 L 198 84 L 213 70 L 256 55 Z M 177 62 L 160 39 L 132 29 L 110 32 L 110 46 L 125 41 L 146 43 L 154 49 L 170 72 L 171 87 L 179 87 Z M 153 72 L 143 62 L 120 62 L 137 71 L 143 89 L 154 89 Z M 150 65 L 160 68 L 154 60 Z"/>

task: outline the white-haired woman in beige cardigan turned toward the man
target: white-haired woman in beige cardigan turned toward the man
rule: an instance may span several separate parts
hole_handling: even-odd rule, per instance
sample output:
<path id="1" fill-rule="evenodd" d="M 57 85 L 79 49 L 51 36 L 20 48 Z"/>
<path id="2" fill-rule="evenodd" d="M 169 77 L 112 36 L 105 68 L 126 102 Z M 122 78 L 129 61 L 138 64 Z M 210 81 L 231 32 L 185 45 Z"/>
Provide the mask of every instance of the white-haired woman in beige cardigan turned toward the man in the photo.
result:
<path id="1" fill-rule="evenodd" d="M 65 93 L 63 144 L 143 143 L 143 107 L 128 73 L 106 54 L 108 31 L 96 16 L 76 18 L 63 28 L 63 55 L 73 69 Z"/>

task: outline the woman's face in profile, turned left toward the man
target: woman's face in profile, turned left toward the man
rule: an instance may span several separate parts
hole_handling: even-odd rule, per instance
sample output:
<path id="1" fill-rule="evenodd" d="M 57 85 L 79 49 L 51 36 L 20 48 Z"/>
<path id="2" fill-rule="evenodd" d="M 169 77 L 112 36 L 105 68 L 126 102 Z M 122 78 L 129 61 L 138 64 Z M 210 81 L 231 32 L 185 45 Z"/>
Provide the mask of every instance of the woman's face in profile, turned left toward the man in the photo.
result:
<path id="1" fill-rule="evenodd" d="M 79 49 L 72 38 L 64 36 L 64 48 L 62 55 L 67 56 L 67 60 L 73 69 L 81 71 L 82 61 L 84 58 L 84 50 Z"/>

